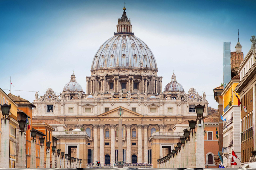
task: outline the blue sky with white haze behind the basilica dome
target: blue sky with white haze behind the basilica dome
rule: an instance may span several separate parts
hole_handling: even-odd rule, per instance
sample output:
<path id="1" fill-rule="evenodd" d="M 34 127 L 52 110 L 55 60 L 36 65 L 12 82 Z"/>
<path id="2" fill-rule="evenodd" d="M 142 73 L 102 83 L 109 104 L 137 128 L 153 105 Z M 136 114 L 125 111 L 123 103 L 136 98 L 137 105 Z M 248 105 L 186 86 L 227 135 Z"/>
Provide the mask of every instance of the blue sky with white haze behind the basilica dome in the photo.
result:
<path id="1" fill-rule="evenodd" d="M 123 0 L 0 0 L 0 88 L 33 102 L 35 92 L 59 93 L 76 80 L 86 92 L 92 59 L 116 31 Z M 162 89 L 173 70 L 185 92 L 193 87 L 218 108 L 223 42 L 241 43 L 244 57 L 256 35 L 256 1 L 126 0 L 135 36 L 154 53 Z M 6 89 L 6 90 L 5 90 Z"/>

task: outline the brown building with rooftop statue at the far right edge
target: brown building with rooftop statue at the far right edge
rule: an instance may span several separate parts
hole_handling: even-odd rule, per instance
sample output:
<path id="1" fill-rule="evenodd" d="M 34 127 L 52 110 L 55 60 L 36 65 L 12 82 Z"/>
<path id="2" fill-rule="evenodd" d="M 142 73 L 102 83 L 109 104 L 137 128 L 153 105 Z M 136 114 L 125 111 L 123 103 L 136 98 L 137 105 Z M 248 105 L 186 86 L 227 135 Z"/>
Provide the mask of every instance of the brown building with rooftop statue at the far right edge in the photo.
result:
<path id="1" fill-rule="evenodd" d="M 242 164 L 249 163 L 255 150 L 255 85 L 256 85 L 256 64 L 255 64 L 255 36 L 250 39 L 252 47 L 240 64 L 238 72 L 240 82 L 235 91 L 240 95 L 240 121 L 241 121 L 241 161 Z M 245 109 L 243 109 L 243 106 Z"/>

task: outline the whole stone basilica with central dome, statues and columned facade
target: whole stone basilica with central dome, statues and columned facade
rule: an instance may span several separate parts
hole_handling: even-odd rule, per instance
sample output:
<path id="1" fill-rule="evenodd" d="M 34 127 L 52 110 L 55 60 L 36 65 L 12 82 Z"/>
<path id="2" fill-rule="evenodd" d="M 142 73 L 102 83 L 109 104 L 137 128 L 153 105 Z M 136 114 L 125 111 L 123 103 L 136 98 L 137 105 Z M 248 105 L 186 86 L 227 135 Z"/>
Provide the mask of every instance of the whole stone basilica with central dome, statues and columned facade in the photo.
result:
<path id="1" fill-rule="evenodd" d="M 93 56 L 86 91 L 73 72 L 60 95 L 51 88 L 43 96 L 35 94 L 33 119 L 57 121 L 58 125 L 51 125 L 53 135 L 60 139 L 57 148 L 85 163 L 117 161 L 120 108 L 123 160 L 127 163 L 154 162 L 151 135 L 172 132 L 175 125 L 195 119 L 194 105 L 205 105 L 207 115 L 205 93 L 201 96 L 194 88 L 186 93 L 174 72 L 162 90 L 156 58 L 134 36 L 125 10 L 114 36 Z M 168 143 L 172 148 L 174 144 Z"/>

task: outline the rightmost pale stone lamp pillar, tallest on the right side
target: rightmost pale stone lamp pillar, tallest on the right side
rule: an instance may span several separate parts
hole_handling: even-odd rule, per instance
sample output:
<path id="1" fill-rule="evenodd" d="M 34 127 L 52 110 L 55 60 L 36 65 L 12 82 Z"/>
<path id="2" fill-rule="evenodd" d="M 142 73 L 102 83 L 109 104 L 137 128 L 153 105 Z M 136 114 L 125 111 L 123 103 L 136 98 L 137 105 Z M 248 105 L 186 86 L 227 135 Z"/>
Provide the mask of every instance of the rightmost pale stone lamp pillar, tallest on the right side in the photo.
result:
<path id="1" fill-rule="evenodd" d="M 205 168 L 204 164 L 204 121 L 201 121 L 201 126 L 199 125 L 199 120 L 197 121 L 196 128 L 196 168 Z"/>

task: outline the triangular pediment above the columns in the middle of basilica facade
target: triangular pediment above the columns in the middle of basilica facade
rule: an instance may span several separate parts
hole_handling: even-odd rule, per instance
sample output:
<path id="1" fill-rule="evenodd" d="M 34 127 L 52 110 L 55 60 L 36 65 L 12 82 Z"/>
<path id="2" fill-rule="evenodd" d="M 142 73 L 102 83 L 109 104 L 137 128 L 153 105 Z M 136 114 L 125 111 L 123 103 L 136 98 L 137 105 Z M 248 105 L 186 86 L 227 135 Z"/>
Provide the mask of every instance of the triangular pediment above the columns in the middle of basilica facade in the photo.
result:
<path id="1" fill-rule="evenodd" d="M 119 108 L 120 107 L 112 109 L 112 110 L 110 110 L 108 112 L 105 112 L 105 113 L 99 115 L 98 117 L 119 117 L 119 112 L 118 112 Z M 121 107 L 121 108 L 123 109 L 123 114 L 121 116 L 122 118 L 123 117 L 143 117 L 143 115 L 138 114 L 136 112 L 133 112 L 133 111 L 131 111 L 129 109 L 126 109 L 124 107 Z"/>

